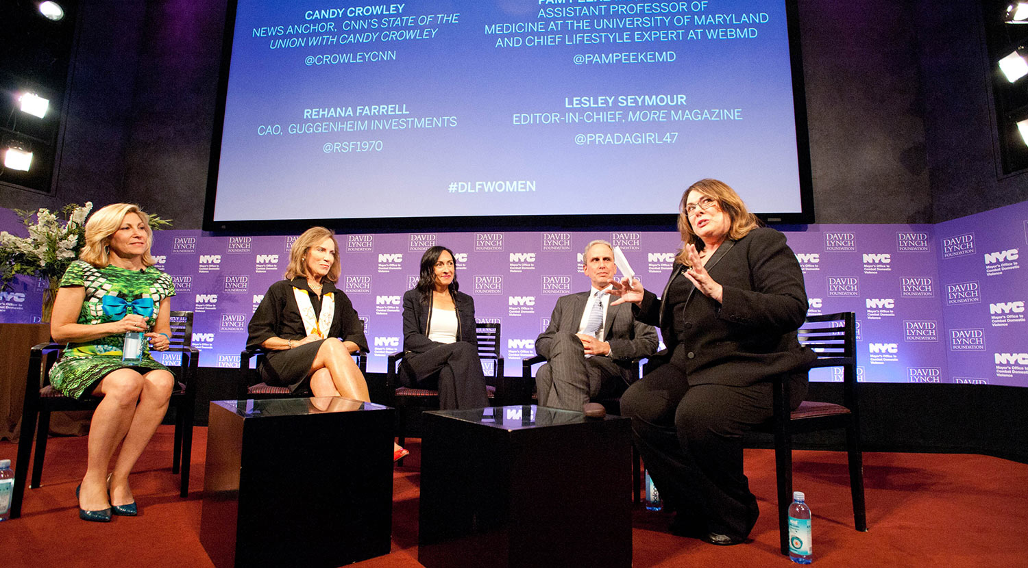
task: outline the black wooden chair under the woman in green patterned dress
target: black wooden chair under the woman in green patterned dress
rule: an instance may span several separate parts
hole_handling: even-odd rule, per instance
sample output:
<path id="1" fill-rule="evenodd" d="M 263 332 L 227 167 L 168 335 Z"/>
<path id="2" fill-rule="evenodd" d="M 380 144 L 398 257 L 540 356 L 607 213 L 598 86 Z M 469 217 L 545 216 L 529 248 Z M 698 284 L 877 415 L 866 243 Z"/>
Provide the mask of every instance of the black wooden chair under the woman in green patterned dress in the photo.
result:
<path id="1" fill-rule="evenodd" d="M 179 494 L 185 497 L 189 491 L 189 465 L 192 455 L 192 422 L 196 400 L 196 365 L 199 352 L 191 346 L 191 311 L 172 312 L 171 347 L 168 351 L 154 351 L 154 356 L 163 358 L 161 353 L 178 353 L 179 365 L 175 372 L 176 385 L 172 391 L 170 408 L 175 408 L 175 449 L 172 457 L 172 472 L 181 469 Z M 14 466 L 14 492 L 11 496 L 11 518 L 22 515 L 22 499 L 25 495 L 26 476 L 29 474 L 29 457 L 35 438 L 35 457 L 32 465 L 32 480 L 29 487 L 40 485 L 43 472 L 43 458 L 46 455 L 46 439 L 50 428 L 50 413 L 75 410 L 95 410 L 102 400 L 89 396 L 82 401 L 69 399 L 50 386 L 49 371 L 61 356 L 64 345 L 40 343 L 29 353 L 29 373 L 25 388 L 25 406 L 22 410 L 22 438 L 17 443 L 17 462 Z M 161 361 L 161 359 L 158 359 Z M 166 363 L 168 365 L 168 363 Z M 38 422 L 37 422 L 38 421 Z M 35 432 L 35 437 L 33 437 Z"/>

